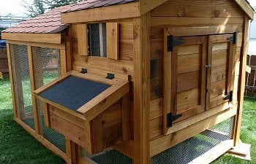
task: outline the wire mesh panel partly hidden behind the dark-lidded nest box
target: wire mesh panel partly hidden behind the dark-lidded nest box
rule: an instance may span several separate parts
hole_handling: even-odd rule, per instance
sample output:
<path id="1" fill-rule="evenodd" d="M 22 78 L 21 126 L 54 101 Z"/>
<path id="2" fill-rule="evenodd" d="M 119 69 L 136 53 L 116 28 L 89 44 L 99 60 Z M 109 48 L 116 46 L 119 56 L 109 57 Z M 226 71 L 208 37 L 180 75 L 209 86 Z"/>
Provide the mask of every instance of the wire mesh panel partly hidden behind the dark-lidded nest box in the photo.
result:
<path id="1" fill-rule="evenodd" d="M 60 76 L 60 50 L 44 47 L 32 47 L 32 54 L 36 89 L 47 85 L 49 82 L 52 82 Z M 56 130 L 45 126 L 42 101 L 37 100 L 37 111 L 39 113 L 39 123 L 42 130 L 42 136 L 58 147 L 62 152 L 66 152 L 65 137 L 56 132 Z"/>

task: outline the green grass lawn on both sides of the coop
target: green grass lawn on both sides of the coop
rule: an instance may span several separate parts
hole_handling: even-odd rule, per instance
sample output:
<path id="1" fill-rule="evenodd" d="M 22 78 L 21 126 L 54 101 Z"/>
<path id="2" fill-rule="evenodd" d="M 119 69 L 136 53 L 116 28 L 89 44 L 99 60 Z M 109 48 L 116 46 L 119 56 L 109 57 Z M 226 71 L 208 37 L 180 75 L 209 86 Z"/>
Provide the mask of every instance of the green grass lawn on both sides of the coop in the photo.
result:
<path id="1" fill-rule="evenodd" d="M 256 163 L 256 98 L 244 101 L 241 140 L 252 144 L 252 161 L 230 155 L 219 157 L 213 164 Z M 64 160 L 26 133 L 12 116 L 12 95 L 9 79 L 0 80 L 0 164 L 64 164 Z"/>

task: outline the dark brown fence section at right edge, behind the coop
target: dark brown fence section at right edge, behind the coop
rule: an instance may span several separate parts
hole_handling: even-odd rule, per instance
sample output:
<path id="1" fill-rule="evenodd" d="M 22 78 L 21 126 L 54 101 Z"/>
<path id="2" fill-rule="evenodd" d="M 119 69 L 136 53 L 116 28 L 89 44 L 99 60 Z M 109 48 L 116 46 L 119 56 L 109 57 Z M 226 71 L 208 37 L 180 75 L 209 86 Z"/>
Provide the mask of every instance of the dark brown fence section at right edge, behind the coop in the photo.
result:
<path id="1" fill-rule="evenodd" d="M 247 55 L 247 65 L 251 67 L 251 74 L 246 73 L 246 96 L 256 95 L 256 55 Z"/>

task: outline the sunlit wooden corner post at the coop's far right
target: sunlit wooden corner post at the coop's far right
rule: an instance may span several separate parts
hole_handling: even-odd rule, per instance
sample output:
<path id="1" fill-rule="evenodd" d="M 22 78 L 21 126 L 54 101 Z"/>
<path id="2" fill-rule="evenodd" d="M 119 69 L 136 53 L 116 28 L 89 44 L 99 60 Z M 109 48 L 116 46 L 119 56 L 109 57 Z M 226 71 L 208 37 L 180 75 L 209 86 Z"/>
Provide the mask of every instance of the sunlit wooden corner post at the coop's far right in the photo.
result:
<path id="1" fill-rule="evenodd" d="M 240 140 L 241 132 L 241 119 L 244 104 L 244 88 L 245 88 L 245 77 L 246 77 L 246 56 L 248 47 L 248 34 L 249 34 L 249 18 L 244 15 L 244 33 L 243 33 L 243 53 L 241 55 L 240 74 L 239 74 L 239 85 L 238 85 L 238 109 L 236 114 L 236 122 L 234 127 L 234 145 L 237 146 Z"/>

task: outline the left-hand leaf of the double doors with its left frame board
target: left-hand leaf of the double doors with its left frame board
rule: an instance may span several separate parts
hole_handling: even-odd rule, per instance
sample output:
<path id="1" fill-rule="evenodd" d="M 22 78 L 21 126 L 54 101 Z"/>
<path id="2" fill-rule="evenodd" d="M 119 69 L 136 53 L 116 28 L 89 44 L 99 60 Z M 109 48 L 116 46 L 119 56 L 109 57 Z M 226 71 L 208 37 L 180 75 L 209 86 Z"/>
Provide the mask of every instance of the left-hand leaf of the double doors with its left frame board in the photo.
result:
<path id="1" fill-rule="evenodd" d="M 173 37 L 183 44 L 164 50 L 164 132 L 168 117 L 182 114 L 178 122 L 205 111 L 207 36 Z"/>

